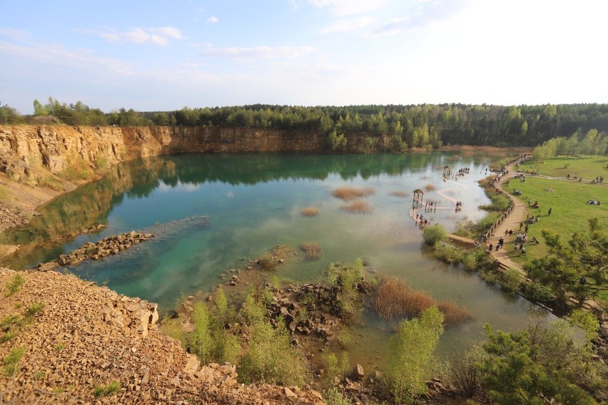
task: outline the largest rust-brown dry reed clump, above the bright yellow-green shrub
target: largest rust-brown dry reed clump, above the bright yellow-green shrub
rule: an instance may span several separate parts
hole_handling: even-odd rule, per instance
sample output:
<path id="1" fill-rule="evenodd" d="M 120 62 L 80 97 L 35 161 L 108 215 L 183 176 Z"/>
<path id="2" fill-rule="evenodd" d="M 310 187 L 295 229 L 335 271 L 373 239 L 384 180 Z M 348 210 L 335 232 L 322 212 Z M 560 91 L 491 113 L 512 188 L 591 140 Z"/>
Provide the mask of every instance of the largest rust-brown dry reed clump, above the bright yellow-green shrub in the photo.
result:
<path id="1" fill-rule="evenodd" d="M 407 282 L 395 276 L 380 279 L 374 300 L 374 309 L 383 319 L 415 317 L 435 304 L 425 292 L 412 289 Z"/>

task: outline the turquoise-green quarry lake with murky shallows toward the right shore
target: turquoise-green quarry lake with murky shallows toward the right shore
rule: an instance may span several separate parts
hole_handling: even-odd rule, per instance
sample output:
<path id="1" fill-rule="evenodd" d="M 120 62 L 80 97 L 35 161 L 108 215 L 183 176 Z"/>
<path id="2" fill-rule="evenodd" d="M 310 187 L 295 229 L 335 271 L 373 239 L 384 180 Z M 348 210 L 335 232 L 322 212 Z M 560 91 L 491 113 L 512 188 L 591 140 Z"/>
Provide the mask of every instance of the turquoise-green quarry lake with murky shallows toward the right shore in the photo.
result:
<path id="1" fill-rule="evenodd" d="M 453 230 L 457 222 L 476 221 L 487 204 L 477 184 L 488 172 L 487 155 L 416 153 L 408 155 L 178 155 L 137 160 L 109 168 L 107 175 L 63 195 L 40 210 L 31 225 L 6 235 L 23 247 L 11 265 L 26 267 L 56 260 L 84 242 L 131 230 L 153 240 L 113 257 L 70 268 L 85 280 L 107 284 L 120 294 L 158 302 L 160 311 L 176 307 L 184 295 L 209 292 L 231 269 L 243 269 L 277 245 L 293 250 L 285 263 L 265 277 L 282 283 L 323 281 L 331 262 L 365 258 L 368 275 L 390 274 L 407 280 L 437 300 L 451 300 L 473 319 L 447 327 L 440 354 L 459 352 L 483 339 L 482 325 L 515 330 L 540 312 L 517 295 L 487 284 L 475 274 L 433 259 L 422 247 L 422 233 L 410 216 L 413 190 L 438 202 L 421 212 L 431 223 Z M 469 168 L 456 179 L 442 170 Z M 369 187 L 372 210 L 341 209 L 332 191 Z M 400 193 L 396 193 L 400 192 Z M 404 197 L 402 194 L 405 193 Z M 462 210 L 455 211 L 455 201 Z M 319 215 L 305 217 L 315 206 Z M 98 232 L 75 234 L 95 224 Z M 50 242 L 55 241 L 55 242 Z M 303 241 L 318 242 L 320 259 L 306 260 Z M 230 293 L 230 287 L 225 287 Z M 544 315 L 543 315 L 544 316 Z M 365 346 L 351 361 L 382 357 L 389 325 L 372 314 L 355 322 L 353 346 Z M 366 361 L 365 358 L 368 358 Z"/>

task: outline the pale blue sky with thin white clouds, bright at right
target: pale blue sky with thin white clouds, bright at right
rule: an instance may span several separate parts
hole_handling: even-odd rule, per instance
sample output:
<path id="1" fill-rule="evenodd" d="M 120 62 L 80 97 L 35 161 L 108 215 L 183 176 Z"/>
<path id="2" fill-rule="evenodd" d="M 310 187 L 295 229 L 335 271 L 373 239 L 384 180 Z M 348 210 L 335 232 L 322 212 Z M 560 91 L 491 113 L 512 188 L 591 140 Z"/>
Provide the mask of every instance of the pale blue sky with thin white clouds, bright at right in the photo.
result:
<path id="1" fill-rule="evenodd" d="M 606 0 L 0 0 L 0 102 L 608 103 Z"/>

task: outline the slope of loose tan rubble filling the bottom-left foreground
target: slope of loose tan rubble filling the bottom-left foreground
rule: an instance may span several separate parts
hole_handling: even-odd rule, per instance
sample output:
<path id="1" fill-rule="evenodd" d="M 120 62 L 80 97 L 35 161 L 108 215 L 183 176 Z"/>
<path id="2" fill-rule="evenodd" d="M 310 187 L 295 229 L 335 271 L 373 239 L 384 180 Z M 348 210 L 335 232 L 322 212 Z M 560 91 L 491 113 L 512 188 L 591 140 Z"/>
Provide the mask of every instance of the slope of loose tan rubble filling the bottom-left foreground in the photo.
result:
<path id="1" fill-rule="evenodd" d="M 0 374 L 2 400 L 16 404 L 323 404 L 312 389 L 239 384 L 231 364 L 201 366 L 179 342 L 158 334 L 156 304 L 118 295 L 74 275 L 26 270 L 24 284 L 0 300 L 0 319 L 44 307 L 0 359 L 24 349 L 13 376 Z M 0 269 L 0 296 L 16 275 Z M 147 327 L 147 334 L 141 327 Z M 6 333 L 6 329 L 0 331 Z M 93 390 L 120 383 L 113 394 Z"/>

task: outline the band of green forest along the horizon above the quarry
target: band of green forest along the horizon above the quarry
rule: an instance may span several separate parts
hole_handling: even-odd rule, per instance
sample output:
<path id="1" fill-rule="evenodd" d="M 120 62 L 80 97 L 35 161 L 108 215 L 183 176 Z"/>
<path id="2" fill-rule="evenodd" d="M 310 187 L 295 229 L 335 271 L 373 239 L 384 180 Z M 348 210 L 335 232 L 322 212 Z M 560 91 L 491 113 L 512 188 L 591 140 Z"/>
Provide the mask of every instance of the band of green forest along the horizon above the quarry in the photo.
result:
<path id="1" fill-rule="evenodd" d="M 0 106 L 0 123 L 66 125 L 184 125 L 311 130 L 326 136 L 328 148 L 342 150 L 349 135 L 363 133 L 367 150 L 408 150 L 441 145 L 535 146 L 552 138 L 589 130 L 597 139 L 608 132 L 608 104 L 543 106 L 470 106 L 464 104 L 416 106 L 252 106 L 188 108 L 139 112 L 121 108 L 103 113 L 78 101 L 46 104 L 34 100 L 34 115 L 21 116 Z M 379 142 L 380 138 L 382 141 Z M 382 148 L 380 148 L 382 145 Z M 606 153 L 602 150 L 600 153 Z"/>

